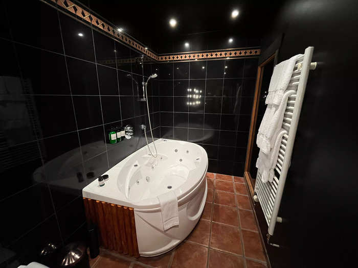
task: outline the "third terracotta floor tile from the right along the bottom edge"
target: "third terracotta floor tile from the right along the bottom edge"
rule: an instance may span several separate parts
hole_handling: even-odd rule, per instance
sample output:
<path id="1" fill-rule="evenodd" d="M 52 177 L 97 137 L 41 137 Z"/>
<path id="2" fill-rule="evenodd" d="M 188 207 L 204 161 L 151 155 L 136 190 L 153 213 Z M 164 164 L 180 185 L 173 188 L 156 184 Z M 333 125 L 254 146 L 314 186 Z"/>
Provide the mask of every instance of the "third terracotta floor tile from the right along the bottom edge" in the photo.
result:
<path id="1" fill-rule="evenodd" d="M 172 268 L 205 268 L 208 248 L 190 242 L 184 242 L 174 252 Z"/>

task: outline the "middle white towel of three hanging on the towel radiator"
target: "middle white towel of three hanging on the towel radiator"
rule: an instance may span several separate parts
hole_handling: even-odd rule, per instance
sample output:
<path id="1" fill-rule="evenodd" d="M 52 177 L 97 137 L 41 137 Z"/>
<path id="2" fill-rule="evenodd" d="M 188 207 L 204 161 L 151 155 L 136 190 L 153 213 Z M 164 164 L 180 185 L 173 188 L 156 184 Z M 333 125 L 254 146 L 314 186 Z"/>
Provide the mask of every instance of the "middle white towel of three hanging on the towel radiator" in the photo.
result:
<path id="1" fill-rule="evenodd" d="M 275 142 L 272 141 L 272 137 L 277 130 L 281 129 L 283 116 L 287 106 L 287 99 L 292 94 L 296 94 L 296 91 L 287 90 L 283 94 L 283 98 L 279 106 L 275 104 L 269 104 L 266 107 L 266 111 L 263 115 L 256 139 L 258 148 L 260 148 L 260 150 L 265 154 L 269 154 L 271 148 L 274 145 L 271 143 Z"/>

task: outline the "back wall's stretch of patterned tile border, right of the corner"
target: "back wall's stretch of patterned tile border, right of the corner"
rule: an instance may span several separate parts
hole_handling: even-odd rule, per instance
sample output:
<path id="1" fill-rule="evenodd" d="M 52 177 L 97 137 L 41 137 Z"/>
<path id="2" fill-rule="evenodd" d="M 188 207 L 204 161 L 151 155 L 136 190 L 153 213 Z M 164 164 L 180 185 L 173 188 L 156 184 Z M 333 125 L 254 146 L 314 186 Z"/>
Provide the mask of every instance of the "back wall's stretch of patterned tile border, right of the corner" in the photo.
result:
<path id="1" fill-rule="evenodd" d="M 200 53 L 183 53 L 177 55 L 160 55 L 159 61 L 183 61 L 183 60 L 206 60 L 206 59 L 217 59 L 217 58 L 238 58 L 260 55 L 261 50 L 221 50 L 215 52 L 203 51 Z"/>

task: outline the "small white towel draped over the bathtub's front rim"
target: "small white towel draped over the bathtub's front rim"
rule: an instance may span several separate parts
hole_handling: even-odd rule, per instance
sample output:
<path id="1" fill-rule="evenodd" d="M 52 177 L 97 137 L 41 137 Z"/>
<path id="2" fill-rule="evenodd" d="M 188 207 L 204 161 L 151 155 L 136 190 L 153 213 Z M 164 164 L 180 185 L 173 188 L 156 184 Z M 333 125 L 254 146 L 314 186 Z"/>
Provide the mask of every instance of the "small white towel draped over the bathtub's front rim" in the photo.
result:
<path id="1" fill-rule="evenodd" d="M 161 204 L 164 231 L 179 225 L 178 200 L 174 191 L 163 193 L 158 199 Z"/>

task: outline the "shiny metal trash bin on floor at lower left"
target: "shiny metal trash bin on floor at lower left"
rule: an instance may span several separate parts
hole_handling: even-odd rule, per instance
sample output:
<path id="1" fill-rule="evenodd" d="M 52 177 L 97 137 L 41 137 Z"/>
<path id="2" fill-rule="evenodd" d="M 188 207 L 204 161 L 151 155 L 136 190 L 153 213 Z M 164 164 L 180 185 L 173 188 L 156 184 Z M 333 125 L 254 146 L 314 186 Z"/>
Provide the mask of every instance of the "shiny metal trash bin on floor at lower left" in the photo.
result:
<path id="1" fill-rule="evenodd" d="M 64 247 L 59 258 L 59 267 L 89 268 L 86 246 L 83 242 L 69 243 Z"/>

